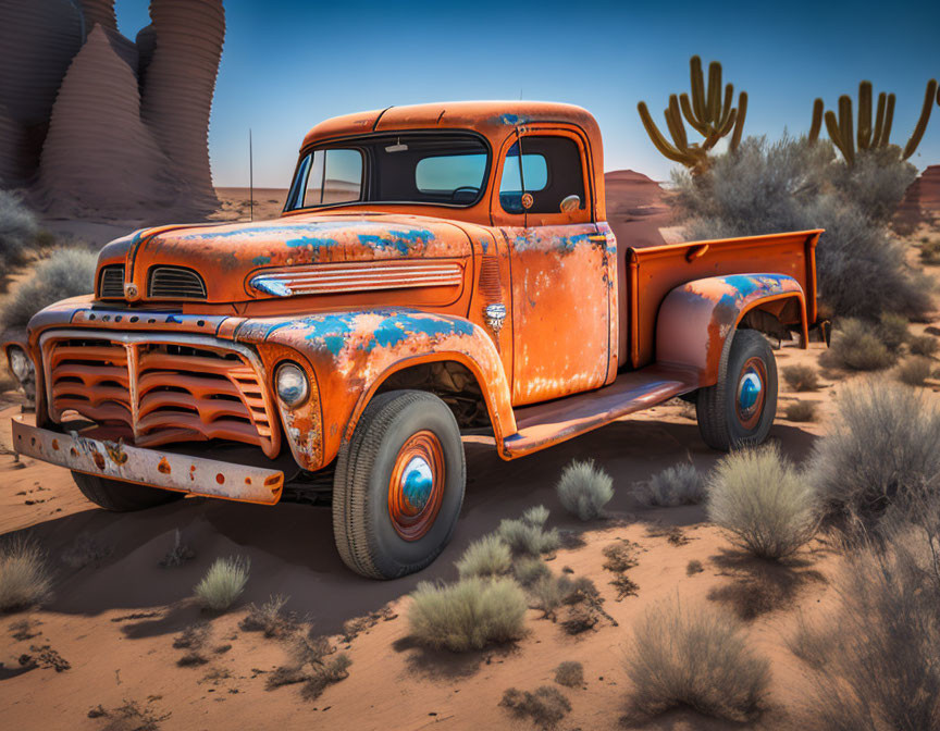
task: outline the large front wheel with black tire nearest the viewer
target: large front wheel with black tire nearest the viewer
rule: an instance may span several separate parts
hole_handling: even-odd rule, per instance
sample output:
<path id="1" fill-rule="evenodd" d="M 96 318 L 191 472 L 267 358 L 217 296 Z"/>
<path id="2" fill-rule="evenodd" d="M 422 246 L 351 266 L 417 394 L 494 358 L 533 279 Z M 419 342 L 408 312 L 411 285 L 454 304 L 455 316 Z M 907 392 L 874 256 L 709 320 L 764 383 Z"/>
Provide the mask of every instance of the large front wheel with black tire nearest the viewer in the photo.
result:
<path id="1" fill-rule="evenodd" d="M 454 533 L 466 480 L 444 401 L 421 391 L 380 394 L 336 460 L 333 536 L 343 561 L 372 579 L 429 566 Z"/>

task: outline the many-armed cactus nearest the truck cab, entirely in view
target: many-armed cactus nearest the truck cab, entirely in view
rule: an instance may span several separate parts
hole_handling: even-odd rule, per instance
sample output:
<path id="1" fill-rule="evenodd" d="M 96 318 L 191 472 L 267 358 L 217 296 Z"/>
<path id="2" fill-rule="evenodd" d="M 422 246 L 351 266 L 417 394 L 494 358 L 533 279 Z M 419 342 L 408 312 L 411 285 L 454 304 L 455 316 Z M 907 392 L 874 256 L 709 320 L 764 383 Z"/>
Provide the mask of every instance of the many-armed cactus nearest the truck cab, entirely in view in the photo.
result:
<path id="1" fill-rule="evenodd" d="M 689 62 L 691 76 L 692 96 L 672 94 L 669 96 L 669 106 L 663 112 L 666 117 L 666 127 L 672 137 L 672 143 L 659 132 L 645 101 L 636 104 L 640 119 L 646 128 L 646 134 L 653 140 L 656 149 L 664 157 L 690 168 L 693 173 L 703 172 L 708 164 L 708 150 L 718 140 L 731 134 L 729 149 L 734 151 L 741 143 L 741 133 L 744 128 L 744 117 L 747 114 L 747 94 L 742 91 L 738 97 L 738 107 L 732 108 L 734 87 L 731 84 L 725 86 L 723 101 L 721 89 L 721 64 L 713 61 L 708 64 L 708 86 L 705 86 L 705 76 L 702 73 L 702 59 L 693 55 Z M 704 140 L 701 144 L 690 144 L 685 135 L 685 125 L 682 117 L 697 132 Z"/>

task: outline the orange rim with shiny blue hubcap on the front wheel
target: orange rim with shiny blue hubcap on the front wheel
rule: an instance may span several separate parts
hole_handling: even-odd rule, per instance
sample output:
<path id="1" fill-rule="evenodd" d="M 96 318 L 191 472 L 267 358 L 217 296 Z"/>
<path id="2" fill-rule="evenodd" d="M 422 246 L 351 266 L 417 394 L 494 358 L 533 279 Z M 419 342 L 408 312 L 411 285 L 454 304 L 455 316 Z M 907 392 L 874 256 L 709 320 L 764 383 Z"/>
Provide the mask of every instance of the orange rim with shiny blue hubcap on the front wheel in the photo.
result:
<path id="1" fill-rule="evenodd" d="M 444 498 L 444 449 L 433 432 L 412 434 L 395 458 L 388 482 L 388 516 L 406 541 L 417 541 L 434 524 Z"/>

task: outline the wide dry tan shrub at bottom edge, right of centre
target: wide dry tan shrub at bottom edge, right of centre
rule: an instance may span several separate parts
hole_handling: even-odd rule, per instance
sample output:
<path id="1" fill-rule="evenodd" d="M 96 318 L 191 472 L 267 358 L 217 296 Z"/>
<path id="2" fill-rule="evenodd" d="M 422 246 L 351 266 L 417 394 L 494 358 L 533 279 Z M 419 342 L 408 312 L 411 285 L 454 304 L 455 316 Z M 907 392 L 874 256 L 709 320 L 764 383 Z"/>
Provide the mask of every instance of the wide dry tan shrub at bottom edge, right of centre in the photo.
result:
<path id="1" fill-rule="evenodd" d="M 631 709 L 645 717 L 688 706 L 751 721 L 765 709 L 770 682 L 769 664 L 751 652 L 735 620 L 678 602 L 647 609 L 634 624 L 627 674 Z"/>

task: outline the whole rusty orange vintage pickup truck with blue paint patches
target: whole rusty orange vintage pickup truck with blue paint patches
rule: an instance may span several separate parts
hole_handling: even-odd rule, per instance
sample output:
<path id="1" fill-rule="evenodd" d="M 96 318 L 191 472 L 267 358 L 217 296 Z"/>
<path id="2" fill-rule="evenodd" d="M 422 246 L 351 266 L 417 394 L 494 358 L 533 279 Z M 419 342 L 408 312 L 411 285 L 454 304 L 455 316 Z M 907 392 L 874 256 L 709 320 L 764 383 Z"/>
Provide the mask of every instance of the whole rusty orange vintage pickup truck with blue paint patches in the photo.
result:
<path id="1" fill-rule="evenodd" d="M 602 156 L 556 103 L 317 125 L 281 218 L 119 238 L 94 296 L 33 318 L 15 449 L 110 510 L 329 498 L 344 561 L 389 579 L 449 540 L 462 434 L 515 459 L 682 396 L 709 446 L 762 442 L 762 333 L 808 340 L 821 232 L 631 248 Z"/>

